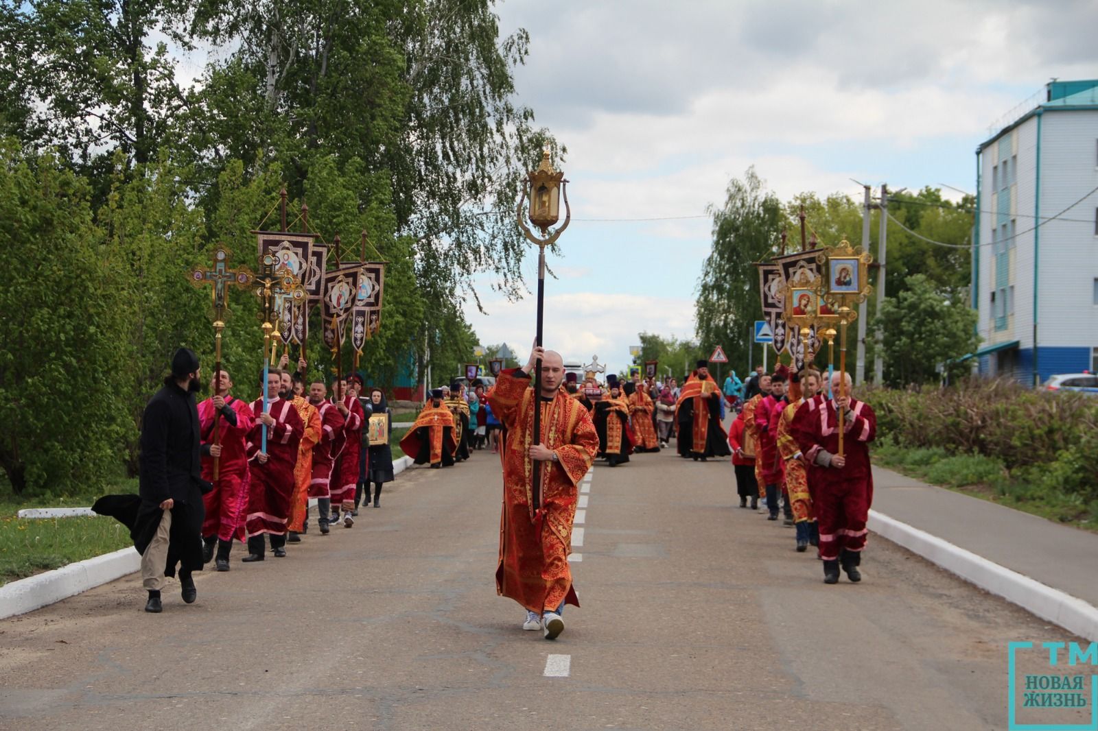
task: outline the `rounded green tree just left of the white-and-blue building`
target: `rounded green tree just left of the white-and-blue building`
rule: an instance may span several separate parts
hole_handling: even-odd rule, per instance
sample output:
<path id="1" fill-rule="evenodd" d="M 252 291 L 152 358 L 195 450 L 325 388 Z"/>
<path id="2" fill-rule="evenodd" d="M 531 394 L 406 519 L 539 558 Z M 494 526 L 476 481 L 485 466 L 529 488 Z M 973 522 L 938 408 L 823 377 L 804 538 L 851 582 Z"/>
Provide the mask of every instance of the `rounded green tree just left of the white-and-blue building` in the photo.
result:
<path id="1" fill-rule="evenodd" d="M 941 294 L 925 274 L 908 277 L 897 296 L 885 299 L 874 326 L 885 334 L 888 385 L 933 383 L 943 374 L 955 380 L 972 370 L 959 359 L 979 342 L 976 312 Z"/>

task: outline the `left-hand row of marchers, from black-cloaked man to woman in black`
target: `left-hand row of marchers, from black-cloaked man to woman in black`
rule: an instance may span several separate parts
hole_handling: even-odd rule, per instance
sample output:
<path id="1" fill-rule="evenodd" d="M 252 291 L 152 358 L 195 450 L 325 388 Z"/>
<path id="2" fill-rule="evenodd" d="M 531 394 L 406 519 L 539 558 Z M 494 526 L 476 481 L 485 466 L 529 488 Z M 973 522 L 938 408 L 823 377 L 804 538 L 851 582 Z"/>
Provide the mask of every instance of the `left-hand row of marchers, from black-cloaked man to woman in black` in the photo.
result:
<path id="1" fill-rule="evenodd" d="M 384 392 L 366 390 L 361 374 L 327 383 L 306 379 L 304 361 L 294 373 L 287 364 L 283 357 L 260 375 L 250 403 L 221 368 L 211 396 L 195 403 L 198 356 L 176 352 L 142 420 L 138 495 L 93 506 L 130 527 L 146 611 L 163 610 L 160 591 L 177 566 L 183 601 L 193 603 L 192 572 L 211 562 L 228 571 L 236 541 L 247 546 L 242 563 L 266 560 L 268 543 L 284 558 L 287 544 L 309 533 L 311 499 L 320 536 L 354 527 L 360 507 L 381 507 L 382 487 L 394 480 Z"/>

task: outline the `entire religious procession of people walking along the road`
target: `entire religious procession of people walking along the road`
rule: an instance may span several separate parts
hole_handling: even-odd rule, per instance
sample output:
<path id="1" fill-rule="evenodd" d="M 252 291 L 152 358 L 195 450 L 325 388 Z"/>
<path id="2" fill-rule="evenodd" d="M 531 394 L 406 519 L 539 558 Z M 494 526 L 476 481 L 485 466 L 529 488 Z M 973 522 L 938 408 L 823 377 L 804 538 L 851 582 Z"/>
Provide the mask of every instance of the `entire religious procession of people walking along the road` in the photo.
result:
<path id="1" fill-rule="evenodd" d="M 682 385 L 639 374 L 627 381 L 612 374 L 600 384 L 594 373 L 582 382 L 565 374 L 558 353 L 540 347 L 533 353 L 525 369 L 502 372 L 491 389 L 474 380 L 470 393 L 460 381 L 433 390 L 401 440 L 405 454 L 433 469 L 490 446 L 500 454 L 505 499 L 496 586 L 525 607 L 524 629 L 553 639 L 563 630 L 564 605 L 576 604 L 568 552 L 579 481 L 593 460 L 617 466 L 636 452 L 666 449 L 671 439 L 684 459 L 730 456 L 740 507 L 761 503 L 770 520 L 784 513 L 796 528 L 796 550 L 817 547 L 828 584 L 839 581 L 840 569 L 861 580 L 873 496 L 867 443 L 876 421 L 867 404 L 849 396 L 848 374 L 825 384 L 817 371 L 778 366 L 769 374 L 758 369 L 746 383 L 732 373 L 718 389 L 708 363 L 698 361 Z M 536 401 L 535 357 L 544 359 Z M 250 403 L 234 395 L 222 368 L 210 381 L 211 396 L 197 403 L 198 357 L 186 348 L 175 355 L 144 414 L 139 494 L 94 506 L 131 528 L 147 611 L 163 610 L 160 591 L 177 567 L 183 600 L 194 601 L 192 572 L 210 562 L 228 571 L 235 541 L 247 546 L 244 563 L 266 560 L 268 544 L 283 558 L 287 544 L 309 533 L 311 517 L 327 536 L 332 526 L 354 527 L 360 507 L 380 507 L 394 479 L 384 392 L 366 390 L 361 374 L 326 383 L 305 379 L 304 361 L 294 373 L 287 364 L 283 357 L 265 371 L 261 395 Z M 736 417 L 726 434 L 727 408 Z M 548 533 L 539 526 L 549 526 Z"/>

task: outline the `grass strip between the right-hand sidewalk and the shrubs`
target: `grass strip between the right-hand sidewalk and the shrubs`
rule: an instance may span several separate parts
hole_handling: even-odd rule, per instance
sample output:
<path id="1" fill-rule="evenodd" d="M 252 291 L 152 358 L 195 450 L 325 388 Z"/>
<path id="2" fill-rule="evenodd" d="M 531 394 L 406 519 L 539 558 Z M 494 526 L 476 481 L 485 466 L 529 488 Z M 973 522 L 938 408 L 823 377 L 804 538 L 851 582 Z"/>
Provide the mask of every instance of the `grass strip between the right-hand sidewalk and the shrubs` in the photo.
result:
<path id="1" fill-rule="evenodd" d="M 873 460 L 909 477 L 1098 532 L 1098 501 L 1088 504 L 1078 495 L 1060 491 L 1040 472 L 1011 473 L 989 457 L 897 447 L 887 440 L 873 450 Z"/>

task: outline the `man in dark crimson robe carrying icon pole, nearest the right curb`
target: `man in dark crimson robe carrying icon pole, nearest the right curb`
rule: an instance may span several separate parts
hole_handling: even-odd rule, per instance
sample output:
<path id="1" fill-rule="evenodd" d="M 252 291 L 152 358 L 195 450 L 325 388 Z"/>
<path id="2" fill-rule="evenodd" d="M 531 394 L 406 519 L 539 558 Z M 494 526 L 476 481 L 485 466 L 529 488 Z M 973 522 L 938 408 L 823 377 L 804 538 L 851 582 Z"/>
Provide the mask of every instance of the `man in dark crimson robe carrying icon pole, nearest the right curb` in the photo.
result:
<path id="1" fill-rule="evenodd" d="M 873 472 L 869 443 L 877 432 L 877 417 L 869 404 L 840 396 L 841 379 L 850 393 L 850 374 L 831 376 L 832 398 L 821 394 L 806 401 L 793 417 L 793 436 L 809 465 L 813 507 L 820 531 L 824 581 L 839 581 L 839 565 L 852 582 L 860 582 L 865 548 L 865 521 L 873 504 Z M 843 411 L 842 454 L 839 454 L 839 412 Z"/>

